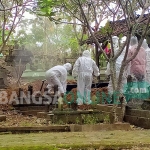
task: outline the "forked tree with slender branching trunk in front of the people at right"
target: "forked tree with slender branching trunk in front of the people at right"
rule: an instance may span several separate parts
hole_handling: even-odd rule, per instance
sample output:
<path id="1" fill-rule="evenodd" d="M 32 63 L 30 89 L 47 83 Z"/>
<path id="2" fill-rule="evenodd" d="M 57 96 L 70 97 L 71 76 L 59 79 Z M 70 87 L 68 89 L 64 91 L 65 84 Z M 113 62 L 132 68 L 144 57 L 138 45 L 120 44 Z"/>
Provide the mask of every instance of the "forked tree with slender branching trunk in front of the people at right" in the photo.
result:
<path id="1" fill-rule="evenodd" d="M 58 0 L 57 2 L 53 0 L 45 0 L 40 1 L 39 0 L 39 7 L 41 8 L 42 15 L 45 15 L 49 17 L 51 21 L 54 21 L 54 15 L 56 13 L 65 13 L 70 17 L 78 19 L 78 25 L 82 25 L 84 28 L 88 29 L 89 34 L 93 37 L 93 40 L 95 42 L 95 45 L 100 49 L 100 51 L 104 54 L 105 58 L 110 63 L 111 68 L 111 80 L 113 84 L 113 91 L 114 92 L 120 92 L 121 89 L 121 80 L 122 75 L 124 72 L 124 69 L 128 63 L 134 59 L 137 55 L 137 53 L 140 50 L 140 47 L 142 45 L 143 39 L 146 37 L 147 33 L 149 32 L 149 23 L 150 23 L 150 15 L 148 16 L 148 20 L 144 22 L 144 24 L 141 25 L 141 21 L 143 21 L 143 15 L 146 11 L 148 11 L 150 2 L 149 0 L 108 0 L 108 1 L 96 1 L 100 2 L 102 5 L 101 7 L 106 8 L 106 10 L 111 14 L 112 21 L 111 25 L 110 22 L 106 24 L 105 27 L 100 29 L 100 34 L 105 34 L 105 37 L 107 37 L 111 42 L 111 56 L 110 58 L 107 57 L 105 54 L 101 44 L 98 42 L 98 39 L 95 37 L 94 32 L 91 28 L 91 22 L 89 21 L 89 18 L 87 16 L 87 9 L 85 6 L 90 3 L 90 5 L 94 5 L 95 0 L 69 0 L 69 1 L 63 1 Z M 43 6 L 43 7 L 41 7 Z M 88 5 L 89 6 L 89 5 Z M 44 8 L 44 9 L 43 9 Z M 137 14 L 135 13 L 137 10 L 141 10 L 141 13 L 139 13 L 139 16 L 137 17 Z M 80 16 L 80 18 L 78 18 Z M 81 19 L 82 18 L 82 19 Z M 95 17 L 97 18 L 97 17 Z M 127 38 L 125 43 L 121 46 L 119 46 L 119 51 L 115 55 L 114 48 L 113 48 L 113 42 L 112 42 L 112 36 L 114 34 L 114 27 L 116 21 L 119 21 L 120 19 L 125 20 L 125 25 L 127 26 Z M 57 19 L 55 21 L 60 21 L 60 19 Z M 92 20 L 93 21 L 93 20 Z M 140 29 L 140 30 L 139 30 Z M 137 33 L 140 33 L 140 39 L 138 43 L 138 47 L 136 50 L 136 53 L 129 59 L 127 59 L 128 49 L 129 49 L 129 43 L 132 35 L 137 35 Z M 118 35 L 119 36 L 119 35 Z M 119 36 L 121 39 L 121 34 Z M 120 40 L 119 40 L 120 43 Z M 125 56 L 121 65 L 119 78 L 116 78 L 116 59 L 119 57 L 119 55 L 122 53 L 123 49 L 126 47 Z M 96 56 L 98 54 L 96 53 Z M 118 98 L 117 98 L 118 100 Z M 116 108 L 117 105 L 114 104 L 114 121 L 117 121 L 116 117 Z"/>

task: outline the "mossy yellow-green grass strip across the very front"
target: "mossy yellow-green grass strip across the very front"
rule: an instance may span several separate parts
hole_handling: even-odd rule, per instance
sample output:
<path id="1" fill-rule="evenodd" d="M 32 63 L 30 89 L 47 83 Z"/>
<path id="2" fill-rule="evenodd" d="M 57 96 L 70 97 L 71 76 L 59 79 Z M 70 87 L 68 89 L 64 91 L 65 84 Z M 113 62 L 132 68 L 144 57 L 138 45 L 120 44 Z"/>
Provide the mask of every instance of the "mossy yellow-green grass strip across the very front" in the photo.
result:
<path id="1" fill-rule="evenodd" d="M 149 149 L 150 130 L 0 135 L 0 150 Z"/>

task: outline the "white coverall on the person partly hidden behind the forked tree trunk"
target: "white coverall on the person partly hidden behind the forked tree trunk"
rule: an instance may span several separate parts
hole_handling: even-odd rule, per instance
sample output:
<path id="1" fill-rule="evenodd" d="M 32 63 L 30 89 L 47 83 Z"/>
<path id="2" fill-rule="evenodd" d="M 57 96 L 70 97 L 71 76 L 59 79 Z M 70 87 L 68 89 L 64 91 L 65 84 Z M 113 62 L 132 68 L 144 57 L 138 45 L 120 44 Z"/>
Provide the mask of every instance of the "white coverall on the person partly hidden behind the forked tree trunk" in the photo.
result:
<path id="1" fill-rule="evenodd" d="M 112 40 L 113 40 L 113 46 L 114 46 L 114 53 L 115 54 L 119 50 L 118 39 L 119 38 L 116 37 L 116 36 L 114 36 L 112 38 Z M 118 77 L 119 77 L 121 64 L 122 64 L 122 61 L 123 61 L 123 58 L 124 58 L 124 55 L 125 55 L 125 50 L 126 49 L 124 49 L 122 51 L 122 53 L 120 54 L 120 56 L 116 60 L 116 79 L 118 79 Z M 109 62 L 107 64 L 107 70 L 105 71 L 105 74 L 106 75 L 110 75 L 110 64 L 109 64 Z M 125 76 L 125 73 L 123 73 L 122 82 L 121 82 L 121 93 L 123 93 L 125 91 L 126 84 L 127 84 L 127 78 Z M 113 86 L 112 86 L 112 80 L 111 80 L 111 78 L 110 78 L 109 84 L 108 84 L 108 91 L 109 91 L 110 94 L 113 93 Z"/>

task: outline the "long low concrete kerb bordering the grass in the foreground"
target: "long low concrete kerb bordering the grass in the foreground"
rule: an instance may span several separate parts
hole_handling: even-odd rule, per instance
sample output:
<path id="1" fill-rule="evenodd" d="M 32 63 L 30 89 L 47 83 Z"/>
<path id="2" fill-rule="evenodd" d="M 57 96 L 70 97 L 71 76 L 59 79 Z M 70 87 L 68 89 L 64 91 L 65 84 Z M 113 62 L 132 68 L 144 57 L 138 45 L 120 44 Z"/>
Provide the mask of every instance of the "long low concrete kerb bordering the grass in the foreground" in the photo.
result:
<path id="1" fill-rule="evenodd" d="M 51 125 L 42 127 L 0 127 L 0 133 L 32 133 L 32 132 L 93 132 L 111 130 L 131 130 L 130 124 L 95 124 L 95 125 Z"/>

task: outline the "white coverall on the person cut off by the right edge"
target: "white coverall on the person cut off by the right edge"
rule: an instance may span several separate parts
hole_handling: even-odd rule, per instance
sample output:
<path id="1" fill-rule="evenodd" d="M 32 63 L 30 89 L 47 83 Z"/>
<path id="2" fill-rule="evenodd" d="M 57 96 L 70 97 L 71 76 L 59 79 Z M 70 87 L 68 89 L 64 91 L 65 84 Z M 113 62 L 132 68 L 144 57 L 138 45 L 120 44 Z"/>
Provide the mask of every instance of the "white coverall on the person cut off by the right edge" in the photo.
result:
<path id="1" fill-rule="evenodd" d="M 146 79 L 145 80 L 150 84 L 150 48 L 148 47 L 146 39 L 144 39 L 142 43 L 142 47 L 145 49 L 146 52 Z"/>

